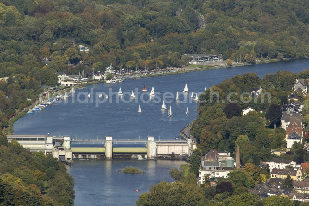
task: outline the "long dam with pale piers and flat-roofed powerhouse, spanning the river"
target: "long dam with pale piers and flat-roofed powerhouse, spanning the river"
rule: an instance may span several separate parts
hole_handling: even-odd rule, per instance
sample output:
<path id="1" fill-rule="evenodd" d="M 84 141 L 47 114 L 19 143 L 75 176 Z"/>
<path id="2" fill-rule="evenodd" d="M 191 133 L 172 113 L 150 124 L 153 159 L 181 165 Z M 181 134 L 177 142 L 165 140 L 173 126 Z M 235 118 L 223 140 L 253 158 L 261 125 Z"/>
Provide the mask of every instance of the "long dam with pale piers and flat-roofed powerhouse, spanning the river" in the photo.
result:
<path id="1" fill-rule="evenodd" d="M 39 137 L 40 136 L 40 137 Z M 38 139 L 40 138 L 40 139 Z M 49 135 L 7 135 L 9 141 L 16 140 L 30 152 L 43 151 L 53 154 L 59 161 L 72 161 L 72 158 L 105 157 L 143 157 L 158 158 L 188 158 L 196 148 L 191 139 L 155 140 L 153 136 L 147 139 L 112 139 L 105 136 L 103 140 L 70 139 L 70 136 L 55 137 Z M 40 140 L 40 141 L 38 141 Z"/>

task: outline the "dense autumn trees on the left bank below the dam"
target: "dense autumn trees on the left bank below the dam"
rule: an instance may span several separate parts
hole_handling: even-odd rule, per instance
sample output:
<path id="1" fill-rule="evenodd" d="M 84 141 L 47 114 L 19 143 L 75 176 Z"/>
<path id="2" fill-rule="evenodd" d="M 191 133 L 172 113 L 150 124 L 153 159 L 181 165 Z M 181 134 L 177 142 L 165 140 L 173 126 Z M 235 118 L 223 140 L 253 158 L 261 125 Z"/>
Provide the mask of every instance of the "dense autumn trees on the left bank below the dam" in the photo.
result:
<path id="1" fill-rule="evenodd" d="M 0 205 L 73 205 L 74 179 L 52 155 L 0 135 Z"/>

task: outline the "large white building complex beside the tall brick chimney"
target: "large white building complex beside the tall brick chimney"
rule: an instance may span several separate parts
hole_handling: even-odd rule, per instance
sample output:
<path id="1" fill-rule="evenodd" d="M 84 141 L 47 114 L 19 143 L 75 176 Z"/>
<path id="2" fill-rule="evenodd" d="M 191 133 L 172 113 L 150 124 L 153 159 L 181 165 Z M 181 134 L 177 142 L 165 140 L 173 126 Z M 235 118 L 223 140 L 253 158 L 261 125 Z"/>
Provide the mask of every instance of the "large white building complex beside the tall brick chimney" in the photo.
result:
<path id="1" fill-rule="evenodd" d="M 226 178 L 226 175 L 233 170 L 234 159 L 231 157 L 230 152 L 217 152 L 216 149 L 211 149 L 202 157 L 198 182 L 200 184 L 203 182 L 205 174 L 209 174 L 210 178 Z"/>

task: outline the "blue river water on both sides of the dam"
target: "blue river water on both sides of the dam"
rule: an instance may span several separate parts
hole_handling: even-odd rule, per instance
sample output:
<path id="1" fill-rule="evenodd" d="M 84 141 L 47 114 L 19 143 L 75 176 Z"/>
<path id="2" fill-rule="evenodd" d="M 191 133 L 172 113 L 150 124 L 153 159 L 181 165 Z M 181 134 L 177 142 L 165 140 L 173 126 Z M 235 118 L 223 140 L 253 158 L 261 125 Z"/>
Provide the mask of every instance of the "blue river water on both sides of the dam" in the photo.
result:
<path id="1" fill-rule="evenodd" d="M 140 98 L 138 102 L 132 101 L 116 103 L 117 95 L 108 98 L 105 103 L 78 103 L 78 92 L 107 92 L 111 88 L 118 92 L 132 92 L 138 88 L 141 91 L 144 84 L 150 92 L 152 85 L 156 92 L 183 91 L 185 83 L 188 84 L 189 92 L 201 92 L 234 75 L 255 72 L 259 77 L 265 74 L 276 73 L 278 70 L 287 70 L 298 73 L 309 68 L 309 60 L 292 60 L 286 62 L 274 62 L 267 64 L 248 65 L 242 67 L 222 68 L 208 71 L 189 72 L 159 77 L 125 80 L 119 84 L 93 84 L 83 90 L 77 90 L 74 97 L 69 98 L 68 103 L 61 102 L 58 105 L 50 105 L 38 114 L 25 115 L 14 123 L 14 134 L 47 134 L 59 136 L 69 135 L 77 139 L 104 139 L 105 135 L 111 135 L 113 139 L 146 139 L 152 135 L 155 139 L 174 139 L 179 131 L 194 120 L 197 116 L 195 111 L 197 104 L 179 103 L 172 101 L 166 106 L 172 108 L 172 117 L 167 117 L 167 110 L 162 111 L 160 103 L 151 99 L 149 103 L 143 103 Z M 91 93 L 92 97 L 95 93 Z M 186 94 L 188 95 L 188 94 Z M 80 95 L 83 101 L 87 98 Z M 95 98 L 94 98 L 95 99 Z M 112 103 L 108 103 L 109 99 Z M 180 100 L 184 96 L 180 95 Z M 72 103 L 74 100 L 75 103 Z M 129 95 L 124 97 L 129 101 Z M 144 96 L 148 101 L 148 96 Z M 190 100 L 188 98 L 188 100 Z M 138 113 L 138 106 L 141 104 L 142 112 Z M 185 114 L 186 109 L 189 114 Z M 63 121 L 61 121 L 63 119 Z M 134 205 L 138 195 L 149 191 L 153 184 L 162 180 L 172 181 L 168 170 L 179 167 L 181 161 L 147 161 L 147 160 L 81 160 L 74 159 L 74 165 L 69 173 L 75 178 L 76 197 L 75 205 Z M 123 174 L 117 170 L 124 166 L 137 166 L 145 170 L 145 174 Z M 135 189 L 140 189 L 135 192 Z"/>

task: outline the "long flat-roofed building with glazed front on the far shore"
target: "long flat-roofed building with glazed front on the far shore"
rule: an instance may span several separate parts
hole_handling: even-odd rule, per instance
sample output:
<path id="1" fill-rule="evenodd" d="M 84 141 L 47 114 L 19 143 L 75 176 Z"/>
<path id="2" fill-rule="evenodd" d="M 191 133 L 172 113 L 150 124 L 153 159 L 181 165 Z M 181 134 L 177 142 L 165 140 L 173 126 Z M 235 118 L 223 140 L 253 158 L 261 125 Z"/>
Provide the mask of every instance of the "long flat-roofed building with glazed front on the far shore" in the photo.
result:
<path id="1" fill-rule="evenodd" d="M 189 58 L 189 64 L 205 65 L 207 63 L 223 62 L 222 54 L 184 54 L 181 58 Z"/>

